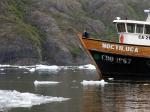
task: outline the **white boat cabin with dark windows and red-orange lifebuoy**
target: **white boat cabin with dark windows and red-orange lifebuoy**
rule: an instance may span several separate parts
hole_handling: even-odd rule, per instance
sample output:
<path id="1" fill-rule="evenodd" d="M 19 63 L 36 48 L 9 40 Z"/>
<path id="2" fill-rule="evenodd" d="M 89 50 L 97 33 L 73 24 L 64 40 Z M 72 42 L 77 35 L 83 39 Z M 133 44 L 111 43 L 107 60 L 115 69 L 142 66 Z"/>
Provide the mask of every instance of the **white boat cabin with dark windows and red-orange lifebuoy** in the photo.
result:
<path id="1" fill-rule="evenodd" d="M 146 21 L 121 20 L 117 17 L 113 23 L 119 35 L 119 43 L 150 46 L 150 10 Z"/>

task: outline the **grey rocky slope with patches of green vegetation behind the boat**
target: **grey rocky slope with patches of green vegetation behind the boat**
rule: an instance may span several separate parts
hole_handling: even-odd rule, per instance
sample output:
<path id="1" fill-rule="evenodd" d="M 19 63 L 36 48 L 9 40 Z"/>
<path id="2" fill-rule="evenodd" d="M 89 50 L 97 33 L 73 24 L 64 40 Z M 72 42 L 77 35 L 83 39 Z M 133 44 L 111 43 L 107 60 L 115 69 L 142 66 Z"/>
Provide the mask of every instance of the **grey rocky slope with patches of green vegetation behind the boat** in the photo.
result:
<path id="1" fill-rule="evenodd" d="M 78 32 L 113 40 L 115 17 L 142 20 L 149 7 L 148 0 L 1 0 L 0 64 L 90 63 Z"/>

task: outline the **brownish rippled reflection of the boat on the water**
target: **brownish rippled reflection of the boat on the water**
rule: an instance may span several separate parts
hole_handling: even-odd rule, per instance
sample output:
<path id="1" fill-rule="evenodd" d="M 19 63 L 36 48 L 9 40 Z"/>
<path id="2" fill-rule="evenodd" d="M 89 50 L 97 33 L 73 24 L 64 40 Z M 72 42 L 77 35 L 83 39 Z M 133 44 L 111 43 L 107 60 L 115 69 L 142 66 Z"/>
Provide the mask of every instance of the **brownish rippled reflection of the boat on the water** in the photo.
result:
<path id="1" fill-rule="evenodd" d="M 142 81 L 143 82 L 143 81 Z M 84 88 L 84 112 L 149 112 L 150 82 Z"/>

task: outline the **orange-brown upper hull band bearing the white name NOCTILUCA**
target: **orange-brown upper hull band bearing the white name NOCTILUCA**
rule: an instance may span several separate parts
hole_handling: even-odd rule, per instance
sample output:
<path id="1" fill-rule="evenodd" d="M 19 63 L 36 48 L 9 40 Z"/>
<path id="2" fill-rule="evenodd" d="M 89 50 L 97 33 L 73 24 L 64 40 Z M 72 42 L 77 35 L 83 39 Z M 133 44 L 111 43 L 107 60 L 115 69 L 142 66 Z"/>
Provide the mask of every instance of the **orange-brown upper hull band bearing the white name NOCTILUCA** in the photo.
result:
<path id="1" fill-rule="evenodd" d="M 86 46 L 86 49 L 88 50 L 121 54 L 133 57 L 150 58 L 150 47 L 148 46 L 120 44 L 88 38 L 82 38 L 82 40 Z"/>

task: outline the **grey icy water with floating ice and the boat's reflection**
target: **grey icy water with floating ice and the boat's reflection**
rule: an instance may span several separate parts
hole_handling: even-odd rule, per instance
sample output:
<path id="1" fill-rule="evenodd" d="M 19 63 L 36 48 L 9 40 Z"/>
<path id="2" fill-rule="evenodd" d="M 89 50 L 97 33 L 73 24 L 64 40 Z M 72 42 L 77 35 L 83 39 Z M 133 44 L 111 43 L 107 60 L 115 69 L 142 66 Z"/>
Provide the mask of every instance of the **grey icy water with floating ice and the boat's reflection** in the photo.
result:
<path id="1" fill-rule="evenodd" d="M 3 112 L 150 111 L 150 80 L 97 81 L 92 66 L 1 67 Z"/>

